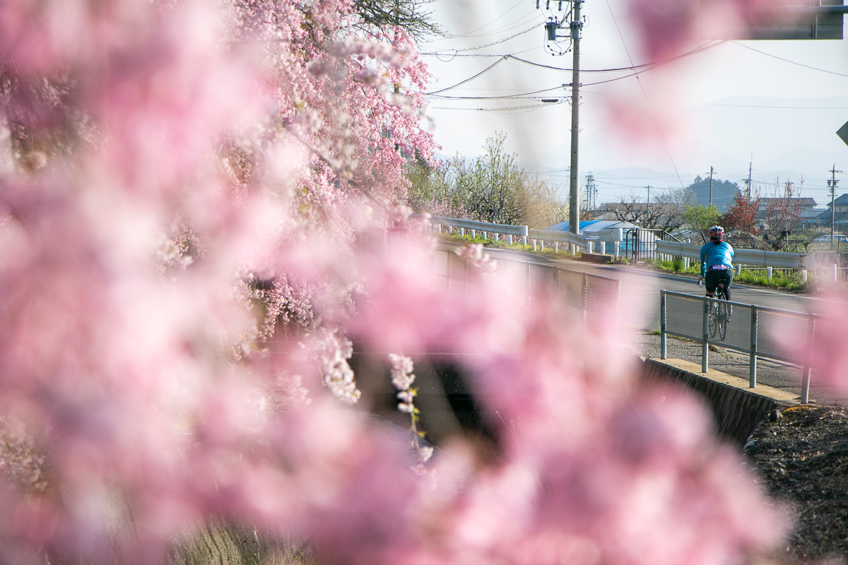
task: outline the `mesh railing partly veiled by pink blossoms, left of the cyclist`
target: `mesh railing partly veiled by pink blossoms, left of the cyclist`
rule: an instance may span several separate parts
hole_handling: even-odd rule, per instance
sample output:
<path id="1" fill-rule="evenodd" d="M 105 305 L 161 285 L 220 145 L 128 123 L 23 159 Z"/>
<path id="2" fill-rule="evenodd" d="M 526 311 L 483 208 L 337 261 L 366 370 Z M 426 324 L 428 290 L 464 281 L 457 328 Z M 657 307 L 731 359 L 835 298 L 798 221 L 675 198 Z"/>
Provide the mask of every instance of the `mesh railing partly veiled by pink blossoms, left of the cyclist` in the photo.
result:
<path id="1" fill-rule="evenodd" d="M 473 279 L 472 269 L 468 263 L 455 252 L 448 249 L 437 250 L 434 258 L 434 274 L 444 279 L 445 290 L 449 294 L 463 293 L 471 290 L 469 284 Z M 522 294 L 527 303 L 541 298 L 552 298 L 561 303 L 566 310 L 587 321 L 592 314 L 609 311 L 616 313 L 614 322 L 617 326 L 617 314 L 621 302 L 622 281 L 598 274 L 582 273 L 562 269 L 555 265 L 530 263 L 520 259 L 492 257 L 497 270 L 517 274 L 517 280 L 524 285 Z"/>

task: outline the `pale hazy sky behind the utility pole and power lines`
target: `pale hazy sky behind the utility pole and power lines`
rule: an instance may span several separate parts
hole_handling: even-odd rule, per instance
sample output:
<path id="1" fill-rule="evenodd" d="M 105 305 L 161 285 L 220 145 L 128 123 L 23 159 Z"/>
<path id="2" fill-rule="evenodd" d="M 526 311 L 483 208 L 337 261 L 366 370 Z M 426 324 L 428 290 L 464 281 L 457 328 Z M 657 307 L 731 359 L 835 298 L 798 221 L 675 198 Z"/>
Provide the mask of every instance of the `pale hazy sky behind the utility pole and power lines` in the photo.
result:
<path id="1" fill-rule="evenodd" d="M 557 2 L 551 11 L 545 0 L 540 4 L 429 4 L 446 34 L 421 47 L 433 75 L 429 92 L 451 97 L 431 97 L 429 114 L 442 154 L 476 155 L 488 137 L 504 132 L 508 151 L 567 193 L 571 91 L 562 85 L 572 74 L 558 69 L 572 68 L 572 53 L 551 54 L 551 47 L 567 42 L 545 42 L 543 25 L 570 4 L 563 3 L 563 13 Z M 628 9 L 624 0 L 587 0 L 582 7 L 579 173 L 582 182 L 594 174 L 599 202 L 644 193 L 647 185 L 686 186 L 711 167 L 717 178 L 739 182 L 749 163 L 754 185 L 764 192 L 803 178 L 802 195 L 823 204 L 834 165 L 845 171 L 836 175 L 837 196 L 848 192 L 848 146 L 835 134 L 848 121 L 848 40 L 693 38 L 680 54 L 703 48 L 698 53 L 633 75 L 608 70 L 651 63 Z M 514 58 L 497 57 L 503 55 Z M 513 95 L 518 98 L 491 99 Z M 628 168 L 648 170 L 616 170 Z"/>

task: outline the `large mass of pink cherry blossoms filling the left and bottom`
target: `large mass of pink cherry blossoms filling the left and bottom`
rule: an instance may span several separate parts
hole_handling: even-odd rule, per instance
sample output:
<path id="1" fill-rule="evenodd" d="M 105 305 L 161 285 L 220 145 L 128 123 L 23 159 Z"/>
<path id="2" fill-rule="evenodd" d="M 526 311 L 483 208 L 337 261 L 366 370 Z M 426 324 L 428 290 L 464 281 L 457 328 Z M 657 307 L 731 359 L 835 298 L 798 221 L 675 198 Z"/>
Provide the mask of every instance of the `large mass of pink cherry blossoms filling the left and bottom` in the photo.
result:
<path id="1" fill-rule="evenodd" d="M 0 562 L 159 563 L 214 521 L 326 562 L 771 548 L 784 519 L 698 402 L 509 273 L 455 296 L 429 237 L 386 236 L 432 155 L 427 72 L 355 8 L 0 3 Z M 357 351 L 454 360 L 493 450 L 430 458 L 413 420 L 410 452 L 365 413 L 384 367 L 354 375 Z"/>

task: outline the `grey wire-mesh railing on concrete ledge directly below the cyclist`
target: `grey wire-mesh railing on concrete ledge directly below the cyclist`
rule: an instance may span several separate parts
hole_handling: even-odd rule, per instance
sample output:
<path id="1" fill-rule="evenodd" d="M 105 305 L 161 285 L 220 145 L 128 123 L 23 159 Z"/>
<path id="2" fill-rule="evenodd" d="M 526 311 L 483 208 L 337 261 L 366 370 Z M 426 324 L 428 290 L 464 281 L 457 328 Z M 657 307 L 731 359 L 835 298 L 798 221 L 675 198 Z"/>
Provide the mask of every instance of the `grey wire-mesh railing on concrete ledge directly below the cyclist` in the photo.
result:
<path id="1" fill-rule="evenodd" d="M 719 302 L 706 296 L 693 296 L 682 292 L 660 291 L 660 356 L 667 357 L 667 335 L 688 338 L 701 344 L 700 370 L 709 368 L 709 346 L 722 346 L 750 356 L 748 380 L 756 388 L 756 361 L 758 358 L 795 363 L 803 367 L 801 402 L 810 396 L 812 337 L 815 335 L 816 314 L 791 312 L 724 302 L 732 307 L 727 329 L 722 335 L 711 336 L 707 330 L 707 317 L 712 305 Z M 795 351 L 775 339 L 778 331 L 784 335 L 806 335 L 807 343 Z"/>

